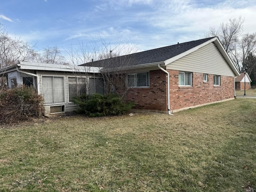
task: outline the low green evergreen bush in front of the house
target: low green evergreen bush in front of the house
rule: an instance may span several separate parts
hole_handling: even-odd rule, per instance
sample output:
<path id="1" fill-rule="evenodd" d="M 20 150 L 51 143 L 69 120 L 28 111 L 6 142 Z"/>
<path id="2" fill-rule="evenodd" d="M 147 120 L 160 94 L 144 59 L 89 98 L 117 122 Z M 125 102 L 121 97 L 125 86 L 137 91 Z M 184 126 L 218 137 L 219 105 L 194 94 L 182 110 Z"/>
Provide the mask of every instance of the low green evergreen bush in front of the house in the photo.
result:
<path id="1" fill-rule="evenodd" d="M 114 94 L 83 94 L 74 98 L 73 102 L 79 105 L 78 112 L 90 117 L 122 115 L 134 106 L 132 102 L 122 104 Z"/>

